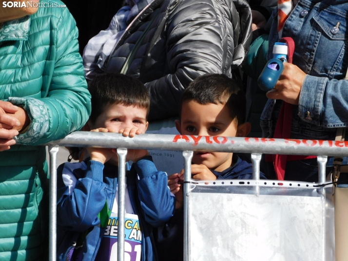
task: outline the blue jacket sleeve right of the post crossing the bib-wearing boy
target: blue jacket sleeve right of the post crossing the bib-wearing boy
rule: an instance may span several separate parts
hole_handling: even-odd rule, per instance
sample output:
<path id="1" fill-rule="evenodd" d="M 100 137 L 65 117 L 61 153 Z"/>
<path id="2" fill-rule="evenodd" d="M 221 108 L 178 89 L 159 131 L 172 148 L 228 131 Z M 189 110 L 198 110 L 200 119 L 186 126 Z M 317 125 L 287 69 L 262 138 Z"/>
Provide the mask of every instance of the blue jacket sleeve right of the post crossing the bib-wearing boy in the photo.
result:
<path id="1" fill-rule="evenodd" d="M 167 173 L 157 171 L 151 156 L 137 161 L 135 169 L 140 179 L 137 187 L 145 220 L 158 227 L 174 215 L 175 197 L 168 187 Z"/>

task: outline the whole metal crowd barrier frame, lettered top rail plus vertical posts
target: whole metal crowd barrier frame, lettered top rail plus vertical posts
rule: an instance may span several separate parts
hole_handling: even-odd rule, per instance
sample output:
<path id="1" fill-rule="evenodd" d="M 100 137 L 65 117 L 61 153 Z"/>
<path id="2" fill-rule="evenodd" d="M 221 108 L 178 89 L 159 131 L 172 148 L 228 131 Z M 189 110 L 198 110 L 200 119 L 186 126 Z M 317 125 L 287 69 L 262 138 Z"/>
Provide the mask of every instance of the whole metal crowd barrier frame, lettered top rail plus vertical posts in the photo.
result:
<path id="1" fill-rule="evenodd" d="M 189 242 L 189 211 L 190 211 L 190 195 L 195 186 L 200 189 L 212 186 L 204 184 L 204 182 L 194 182 L 191 179 L 191 159 L 193 151 L 219 151 L 219 152 L 237 152 L 237 153 L 251 153 L 253 180 L 248 181 L 249 192 L 244 194 L 255 194 L 256 196 L 263 193 L 263 189 L 268 186 L 282 186 L 290 187 L 290 182 L 260 181 L 260 161 L 261 155 L 265 154 L 287 154 L 287 155 L 316 155 L 319 167 L 319 182 L 313 183 L 295 183 L 301 188 L 309 187 L 311 191 L 316 186 L 320 193 L 325 194 L 330 192 L 324 187 L 318 185 L 326 182 L 326 163 L 328 156 L 347 156 L 348 142 L 345 141 L 321 141 L 321 140 L 297 140 L 297 139 L 267 139 L 267 138 L 241 138 L 241 137 L 206 137 L 206 136 L 191 136 L 191 135 L 159 135 L 159 134 L 141 134 L 134 138 L 123 137 L 116 133 L 103 132 L 82 132 L 77 131 L 64 139 L 46 144 L 49 146 L 50 155 L 50 243 L 49 243 L 49 260 L 56 261 L 56 236 L 57 236 L 57 153 L 59 146 L 67 147 L 97 147 L 97 148 L 118 148 L 118 234 L 124 234 L 124 208 L 125 208 L 125 159 L 127 149 L 162 149 L 162 150 L 180 150 L 183 151 L 184 157 L 184 260 L 191 261 L 191 246 Z M 172 173 L 170 173 L 172 174 Z M 236 180 L 231 180 L 236 181 Z M 242 183 L 246 183 L 243 180 Z M 269 185 L 266 185 L 266 182 Z M 193 184 L 194 183 L 194 184 Z M 234 182 L 236 183 L 236 182 Z M 215 184 L 215 182 L 213 183 Z M 220 185 L 222 186 L 224 182 Z M 232 182 L 231 182 L 232 184 Z M 279 185 L 280 184 L 280 185 Z M 201 185 L 201 186 L 198 186 Z M 246 185 L 246 184 L 245 184 Z M 225 184 L 226 186 L 226 184 Z M 244 186 L 244 185 L 237 185 Z M 250 192 L 252 190 L 252 192 Z M 328 205 L 328 203 L 325 203 Z M 325 216 L 331 215 L 331 212 L 324 213 Z M 325 231 L 332 229 L 332 225 L 323 221 L 323 244 L 325 244 Z M 333 239 L 334 240 L 334 239 Z M 331 239 L 332 242 L 332 239 Z M 323 253 L 323 260 L 334 260 L 334 246 L 330 248 L 331 253 Z M 325 249 L 323 250 L 325 252 Z M 333 251 L 333 253 L 332 253 Z M 117 244 L 117 261 L 124 261 L 124 237 L 118 238 Z M 326 257 L 326 258 L 325 258 Z M 332 259 L 333 257 L 333 259 Z"/>

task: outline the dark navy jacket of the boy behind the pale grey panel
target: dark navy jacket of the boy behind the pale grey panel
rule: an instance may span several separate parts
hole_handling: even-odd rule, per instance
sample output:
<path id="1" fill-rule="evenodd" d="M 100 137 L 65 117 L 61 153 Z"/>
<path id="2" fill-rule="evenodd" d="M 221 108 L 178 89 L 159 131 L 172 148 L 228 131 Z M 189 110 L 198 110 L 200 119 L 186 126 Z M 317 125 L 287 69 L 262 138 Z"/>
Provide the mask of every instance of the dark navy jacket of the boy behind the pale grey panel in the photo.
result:
<path id="1" fill-rule="evenodd" d="M 214 171 L 217 179 L 252 179 L 252 165 L 243 155 L 233 153 L 234 165 L 224 171 Z M 260 171 L 260 179 L 266 179 Z M 155 243 L 160 261 L 182 261 L 184 257 L 184 213 L 182 209 L 175 211 L 173 218 L 155 229 Z"/>

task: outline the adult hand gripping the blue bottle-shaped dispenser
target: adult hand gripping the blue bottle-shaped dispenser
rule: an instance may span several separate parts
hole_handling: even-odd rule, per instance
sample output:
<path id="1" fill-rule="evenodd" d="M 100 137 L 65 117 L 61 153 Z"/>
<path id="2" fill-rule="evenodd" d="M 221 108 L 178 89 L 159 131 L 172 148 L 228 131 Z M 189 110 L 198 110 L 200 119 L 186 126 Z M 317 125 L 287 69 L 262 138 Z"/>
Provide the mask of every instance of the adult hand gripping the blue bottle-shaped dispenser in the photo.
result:
<path id="1" fill-rule="evenodd" d="M 298 105 L 301 88 L 306 74 L 291 63 L 284 63 L 284 71 L 274 86 L 266 93 L 269 99 L 280 99 L 287 103 Z"/>

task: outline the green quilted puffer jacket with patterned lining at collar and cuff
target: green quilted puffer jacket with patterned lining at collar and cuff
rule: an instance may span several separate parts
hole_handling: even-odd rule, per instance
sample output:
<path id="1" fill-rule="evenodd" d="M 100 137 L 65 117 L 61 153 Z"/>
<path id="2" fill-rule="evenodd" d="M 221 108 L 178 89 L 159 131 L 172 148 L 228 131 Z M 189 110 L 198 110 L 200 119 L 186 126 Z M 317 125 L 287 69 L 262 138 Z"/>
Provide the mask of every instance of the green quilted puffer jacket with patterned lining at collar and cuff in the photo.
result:
<path id="1" fill-rule="evenodd" d="M 42 7 L 0 29 L 0 99 L 31 120 L 19 145 L 0 152 L 0 261 L 48 259 L 48 171 L 37 145 L 79 130 L 91 112 L 77 35 L 67 8 Z"/>

